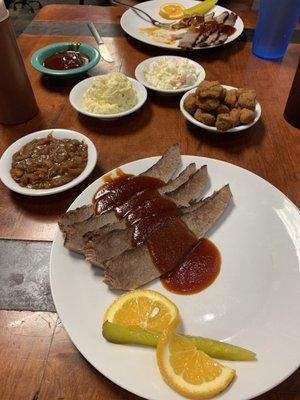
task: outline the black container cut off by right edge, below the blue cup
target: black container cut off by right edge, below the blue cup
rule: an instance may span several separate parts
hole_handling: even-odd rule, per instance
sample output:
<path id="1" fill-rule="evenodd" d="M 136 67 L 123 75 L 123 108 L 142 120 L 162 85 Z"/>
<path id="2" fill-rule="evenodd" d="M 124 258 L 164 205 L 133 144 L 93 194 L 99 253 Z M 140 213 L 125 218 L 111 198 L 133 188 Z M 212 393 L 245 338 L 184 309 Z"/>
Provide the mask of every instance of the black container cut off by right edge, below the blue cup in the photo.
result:
<path id="1" fill-rule="evenodd" d="M 284 118 L 289 124 L 300 128 L 300 61 L 286 102 Z"/>

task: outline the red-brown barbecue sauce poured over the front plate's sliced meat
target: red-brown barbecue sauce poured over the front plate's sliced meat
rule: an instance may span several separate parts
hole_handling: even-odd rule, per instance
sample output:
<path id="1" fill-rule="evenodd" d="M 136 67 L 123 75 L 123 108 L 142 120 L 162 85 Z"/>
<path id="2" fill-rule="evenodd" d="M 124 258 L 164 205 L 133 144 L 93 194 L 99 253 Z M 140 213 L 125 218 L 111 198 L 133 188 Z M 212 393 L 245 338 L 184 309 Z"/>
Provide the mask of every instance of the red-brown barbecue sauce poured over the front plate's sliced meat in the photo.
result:
<path id="1" fill-rule="evenodd" d="M 147 176 L 117 171 L 94 196 L 96 212 L 114 210 L 132 228 L 133 246 L 147 243 L 156 268 L 164 275 L 165 288 L 192 294 L 209 286 L 220 271 L 221 257 L 207 239 L 198 240 L 179 218 L 180 208 L 159 193 L 164 183 Z"/>

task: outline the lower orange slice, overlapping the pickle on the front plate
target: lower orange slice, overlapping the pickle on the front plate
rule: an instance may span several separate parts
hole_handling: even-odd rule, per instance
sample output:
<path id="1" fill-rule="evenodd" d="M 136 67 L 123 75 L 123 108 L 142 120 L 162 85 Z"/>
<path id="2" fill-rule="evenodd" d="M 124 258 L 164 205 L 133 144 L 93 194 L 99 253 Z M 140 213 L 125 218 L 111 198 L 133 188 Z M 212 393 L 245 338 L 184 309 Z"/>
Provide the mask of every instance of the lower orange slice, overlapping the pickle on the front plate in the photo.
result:
<path id="1" fill-rule="evenodd" d="M 216 396 L 231 383 L 235 370 L 210 358 L 171 324 L 159 338 L 156 357 L 167 384 L 183 396 L 202 399 Z"/>

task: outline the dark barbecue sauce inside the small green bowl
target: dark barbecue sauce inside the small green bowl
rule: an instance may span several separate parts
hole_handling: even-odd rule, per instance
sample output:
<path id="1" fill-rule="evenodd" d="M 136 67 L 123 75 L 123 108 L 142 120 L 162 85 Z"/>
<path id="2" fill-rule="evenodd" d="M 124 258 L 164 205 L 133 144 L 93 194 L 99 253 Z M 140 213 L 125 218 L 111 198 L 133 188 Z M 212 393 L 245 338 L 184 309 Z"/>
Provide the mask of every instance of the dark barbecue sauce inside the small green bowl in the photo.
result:
<path id="1" fill-rule="evenodd" d="M 66 70 L 82 67 L 89 62 L 89 58 L 79 51 L 67 50 L 54 53 L 44 61 L 44 67 L 55 70 Z"/>

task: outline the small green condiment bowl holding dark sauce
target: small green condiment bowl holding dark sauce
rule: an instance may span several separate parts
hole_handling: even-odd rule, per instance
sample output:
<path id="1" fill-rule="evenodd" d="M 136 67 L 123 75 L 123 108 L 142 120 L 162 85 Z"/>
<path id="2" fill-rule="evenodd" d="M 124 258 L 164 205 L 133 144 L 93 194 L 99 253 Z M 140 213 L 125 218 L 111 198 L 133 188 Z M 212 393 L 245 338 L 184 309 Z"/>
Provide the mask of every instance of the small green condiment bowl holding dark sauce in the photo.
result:
<path id="1" fill-rule="evenodd" d="M 32 54 L 31 65 L 39 72 L 42 72 L 46 75 L 55 76 L 57 78 L 73 78 L 86 73 L 88 70 L 98 64 L 100 60 L 99 51 L 88 43 L 81 43 L 78 51 L 89 58 L 90 61 L 87 64 L 83 65 L 82 67 L 64 70 L 56 70 L 44 67 L 44 61 L 47 57 L 58 52 L 69 50 L 71 44 L 71 42 L 58 42 L 42 47 Z"/>

